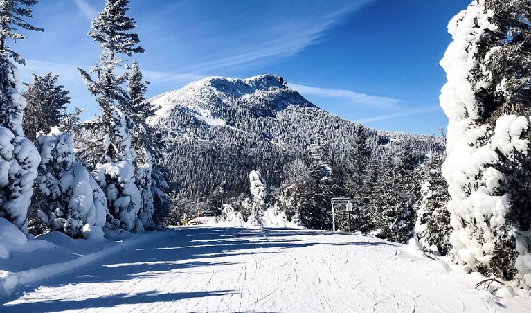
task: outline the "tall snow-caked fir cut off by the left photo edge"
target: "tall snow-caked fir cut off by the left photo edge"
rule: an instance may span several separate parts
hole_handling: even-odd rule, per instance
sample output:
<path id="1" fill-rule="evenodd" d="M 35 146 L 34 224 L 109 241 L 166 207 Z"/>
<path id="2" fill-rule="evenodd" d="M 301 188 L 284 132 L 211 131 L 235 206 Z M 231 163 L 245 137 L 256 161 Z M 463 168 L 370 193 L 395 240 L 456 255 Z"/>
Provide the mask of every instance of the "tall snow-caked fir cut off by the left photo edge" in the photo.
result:
<path id="1" fill-rule="evenodd" d="M 31 6 L 36 0 L 0 1 L 0 217 L 27 233 L 28 206 L 37 177 L 39 153 L 24 137 L 22 118 L 26 100 L 19 93 L 21 83 L 15 62 L 24 63 L 7 44 L 8 39 L 26 39 L 16 28 L 41 31 L 31 26 Z"/>

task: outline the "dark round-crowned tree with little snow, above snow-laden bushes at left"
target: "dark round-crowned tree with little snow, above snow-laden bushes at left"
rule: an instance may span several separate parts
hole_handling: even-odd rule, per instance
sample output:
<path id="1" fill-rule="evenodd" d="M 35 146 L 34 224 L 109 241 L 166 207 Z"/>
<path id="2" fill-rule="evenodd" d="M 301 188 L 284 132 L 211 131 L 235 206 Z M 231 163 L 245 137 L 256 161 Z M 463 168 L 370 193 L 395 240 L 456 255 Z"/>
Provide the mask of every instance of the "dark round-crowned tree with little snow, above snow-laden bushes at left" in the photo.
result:
<path id="1" fill-rule="evenodd" d="M 25 84 L 27 89 L 21 93 L 28 104 L 24 109 L 22 128 L 26 137 L 35 142 L 38 132 L 48 134 L 66 117 L 65 109 L 70 97 L 64 86 L 56 84 L 59 75 L 31 75 L 32 81 Z"/>

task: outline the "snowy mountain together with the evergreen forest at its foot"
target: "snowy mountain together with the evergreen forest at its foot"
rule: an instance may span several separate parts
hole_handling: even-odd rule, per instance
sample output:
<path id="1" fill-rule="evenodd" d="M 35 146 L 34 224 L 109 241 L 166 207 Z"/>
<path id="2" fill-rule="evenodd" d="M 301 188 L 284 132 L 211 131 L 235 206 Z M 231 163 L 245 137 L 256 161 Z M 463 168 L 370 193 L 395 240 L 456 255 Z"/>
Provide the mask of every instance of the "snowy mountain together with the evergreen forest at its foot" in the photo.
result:
<path id="1" fill-rule="evenodd" d="M 177 183 L 174 202 L 188 202 L 188 215 L 208 215 L 212 202 L 246 211 L 249 173 L 258 170 L 269 205 L 287 211 L 288 220 L 332 229 L 330 199 L 354 197 L 351 229 L 406 242 L 430 177 L 422 168 L 437 168 L 444 154 L 441 138 L 343 120 L 273 75 L 205 78 L 151 101 L 159 107 L 148 123 L 161 134 L 161 166 Z M 288 203 L 301 208 L 290 211 Z M 339 228 L 348 229 L 338 214 Z"/>

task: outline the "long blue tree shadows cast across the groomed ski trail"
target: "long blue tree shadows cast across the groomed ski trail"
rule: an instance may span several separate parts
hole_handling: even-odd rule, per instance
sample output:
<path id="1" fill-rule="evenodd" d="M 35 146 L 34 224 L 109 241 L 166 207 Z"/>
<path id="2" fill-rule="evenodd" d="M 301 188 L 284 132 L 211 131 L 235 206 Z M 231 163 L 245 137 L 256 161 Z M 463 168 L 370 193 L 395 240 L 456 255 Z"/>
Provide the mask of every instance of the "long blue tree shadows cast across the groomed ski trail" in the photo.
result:
<path id="1" fill-rule="evenodd" d="M 330 244 L 328 242 L 312 242 L 301 237 L 303 235 L 352 235 L 348 233 L 330 231 L 307 231 L 296 229 L 236 229 L 230 227 L 196 227 L 168 230 L 172 240 L 164 238 L 160 241 L 149 242 L 150 246 L 138 244 L 127 247 L 113 256 L 99 260 L 86 267 L 74 269 L 60 276 L 49 278 L 45 285 L 59 287 L 67 284 L 78 283 L 107 283 L 123 282 L 131 279 L 150 278 L 160 271 L 172 271 L 175 275 L 189 274 L 187 269 L 198 267 L 219 267 L 234 265 L 238 262 L 226 262 L 223 258 L 253 254 L 281 253 L 283 249 L 293 249 Z M 378 242 L 354 241 L 338 243 L 336 245 L 393 245 L 384 240 Z M 333 244 L 333 243 L 332 243 Z M 398 246 L 395 246 L 398 247 Z M 250 250 L 252 249 L 252 250 Z M 264 251 L 264 249 L 270 249 Z M 243 266 L 243 262 L 242 262 Z M 210 269 L 209 269 L 210 270 Z M 27 286 L 26 291 L 37 286 Z M 3 305 L 0 312 L 49 312 L 50 310 L 75 310 L 84 307 L 109 307 L 123 303 L 146 303 L 159 301 L 175 301 L 181 298 L 200 296 L 219 296 L 237 291 L 210 291 L 210 292 L 177 292 L 172 294 L 159 294 L 145 292 L 129 296 L 117 294 L 80 301 L 47 301 L 39 303 L 20 303 Z M 4 303 L 12 301 L 3 299 Z M 9 311 L 8 311 L 9 310 Z"/>

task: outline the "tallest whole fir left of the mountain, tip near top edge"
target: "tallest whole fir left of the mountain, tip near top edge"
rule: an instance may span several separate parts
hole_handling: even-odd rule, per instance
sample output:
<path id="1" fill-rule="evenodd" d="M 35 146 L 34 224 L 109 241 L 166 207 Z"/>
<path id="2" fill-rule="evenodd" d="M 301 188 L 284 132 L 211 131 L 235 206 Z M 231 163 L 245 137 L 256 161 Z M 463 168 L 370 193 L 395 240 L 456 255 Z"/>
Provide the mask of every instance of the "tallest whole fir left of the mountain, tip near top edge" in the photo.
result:
<path id="1" fill-rule="evenodd" d="M 103 126 L 102 145 L 105 153 L 95 166 L 94 176 L 105 190 L 109 211 L 115 222 L 120 228 L 129 231 L 141 228 L 143 222 L 152 224 L 152 210 L 148 209 L 141 214 L 143 221 L 138 219 L 143 197 L 135 185 L 136 152 L 131 142 L 135 125 L 132 119 L 118 108 L 130 104 L 129 94 L 123 88 L 129 73 L 116 73 L 125 62 L 120 59 L 120 55 L 130 57 L 133 53 L 144 52 L 144 49 L 138 46 L 138 35 L 131 33 L 135 25 L 134 19 L 126 16 L 128 3 L 129 0 L 105 1 L 105 8 L 92 22 L 94 31 L 88 33 L 94 41 L 100 43 L 100 62 L 89 73 L 82 69 L 79 71 L 89 92 L 96 96 L 96 102 L 102 112 L 100 124 Z M 96 73 L 96 80 L 93 80 L 91 73 Z M 150 155 L 145 152 L 142 153 L 147 161 Z M 142 168 L 143 176 L 151 170 L 149 164 L 139 168 Z M 148 183 L 141 181 L 141 184 Z M 148 202 L 149 195 L 145 198 Z"/>

